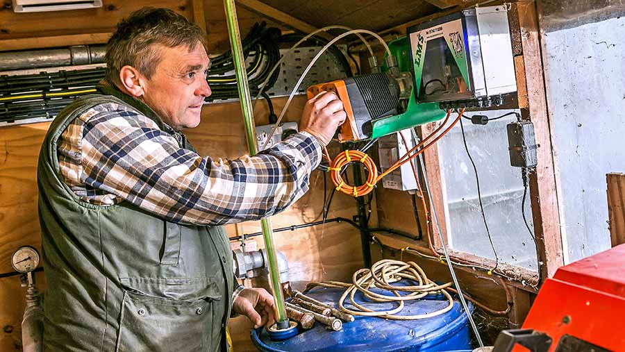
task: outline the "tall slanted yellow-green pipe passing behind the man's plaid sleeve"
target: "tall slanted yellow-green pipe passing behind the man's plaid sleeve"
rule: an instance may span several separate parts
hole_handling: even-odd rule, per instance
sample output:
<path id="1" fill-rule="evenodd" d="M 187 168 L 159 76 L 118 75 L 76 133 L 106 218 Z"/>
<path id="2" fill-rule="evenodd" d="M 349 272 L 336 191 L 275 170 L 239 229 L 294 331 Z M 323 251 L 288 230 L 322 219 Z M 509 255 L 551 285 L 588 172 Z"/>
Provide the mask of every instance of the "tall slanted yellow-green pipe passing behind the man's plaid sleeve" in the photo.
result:
<path id="1" fill-rule="evenodd" d="M 249 83 L 247 81 L 247 72 L 245 70 L 245 58 L 241 44 L 241 34 L 239 32 L 239 24 L 237 19 L 237 10 L 234 0 L 224 0 L 224 9 L 226 10 L 226 22 L 228 23 L 228 36 L 230 37 L 230 45 L 232 47 L 232 58 L 237 76 L 237 88 L 239 91 L 239 101 L 243 112 L 243 121 L 245 124 L 245 135 L 250 156 L 257 153 L 256 148 L 256 128 L 254 126 L 254 114 L 249 95 Z M 276 249 L 274 245 L 274 235 L 272 224 L 269 218 L 261 219 L 260 226 L 263 228 L 263 237 L 265 239 L 265 251 L 267 253 L 269 278 L 272 282 L 272 294 L 274 295 L 274 303 L 276 306 L 277 328 L 289 328 L 289 318 L 287 317 L 284 296 L 282 293 L 282 285 L 280 284 L 280 273 L 278 271 L 278 262 L 276 260 Z"/>

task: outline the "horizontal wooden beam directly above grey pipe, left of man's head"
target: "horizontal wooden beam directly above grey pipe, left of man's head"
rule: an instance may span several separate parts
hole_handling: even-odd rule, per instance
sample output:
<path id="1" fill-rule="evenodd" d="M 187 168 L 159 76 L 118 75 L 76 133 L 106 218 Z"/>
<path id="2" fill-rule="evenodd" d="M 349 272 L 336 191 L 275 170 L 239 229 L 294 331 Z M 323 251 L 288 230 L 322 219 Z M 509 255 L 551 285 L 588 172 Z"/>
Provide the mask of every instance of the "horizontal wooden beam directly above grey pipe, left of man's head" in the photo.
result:
<path id="1" fill-rule="evenodd" d="M 72 45 L 104 44 L 113 33 L 56 35 L 0 40 L 0 51 L 69 47 Z"/>

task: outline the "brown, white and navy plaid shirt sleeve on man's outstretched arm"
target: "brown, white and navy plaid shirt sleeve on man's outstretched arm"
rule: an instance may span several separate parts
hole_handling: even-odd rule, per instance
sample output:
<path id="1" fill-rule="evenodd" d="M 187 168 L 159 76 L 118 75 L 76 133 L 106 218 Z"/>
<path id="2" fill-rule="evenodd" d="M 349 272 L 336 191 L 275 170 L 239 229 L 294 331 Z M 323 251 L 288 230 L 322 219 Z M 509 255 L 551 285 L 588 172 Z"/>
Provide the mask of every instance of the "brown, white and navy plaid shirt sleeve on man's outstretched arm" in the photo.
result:
<path id="1" fill-rule="evenodd" d="M 169 221 L 213 226 L 273 215 L 299 199 L 321 149 L 301 132 L 253 157 L 201 157 L 136 110 L 105 103 L 63 132 L 58 162 L 83 201 L 128 201 Z"/>

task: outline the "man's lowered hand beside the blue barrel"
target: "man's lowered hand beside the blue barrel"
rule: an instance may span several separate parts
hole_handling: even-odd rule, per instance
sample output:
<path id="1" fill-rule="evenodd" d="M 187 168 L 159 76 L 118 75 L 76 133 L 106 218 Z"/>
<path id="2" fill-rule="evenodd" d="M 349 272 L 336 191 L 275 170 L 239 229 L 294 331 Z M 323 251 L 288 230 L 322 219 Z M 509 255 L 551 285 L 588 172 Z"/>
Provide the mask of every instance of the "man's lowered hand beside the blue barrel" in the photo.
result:
<path id="1" fill-rule="evenodd" d="M 244 288 L 232 304 L 235 313 L 244 315 L 260 328 L 274 324 L 274 296 L 263 288 Z"/>

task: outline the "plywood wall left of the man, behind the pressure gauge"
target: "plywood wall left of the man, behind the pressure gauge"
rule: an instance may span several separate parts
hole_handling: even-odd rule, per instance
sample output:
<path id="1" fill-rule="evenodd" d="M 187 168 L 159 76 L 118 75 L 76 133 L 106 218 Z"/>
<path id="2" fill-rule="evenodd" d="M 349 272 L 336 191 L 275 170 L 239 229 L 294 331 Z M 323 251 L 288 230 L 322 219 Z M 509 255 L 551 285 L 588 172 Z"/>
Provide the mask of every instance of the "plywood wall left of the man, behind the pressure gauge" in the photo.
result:
<path id="1" fill-rule="evenodd" d="M 40 249 L 35 176 L 47 126 L 0 128 L 0 273 L 13 271 L 10 255 L 19 246 L 28 244 Z M 42 284 L 43 275 L 37 274 L 36 278 Z M 0 278 L 0 351 L 21 349 L 23 312 L 24 289 L 19 286 L 19 278 Z"/>

